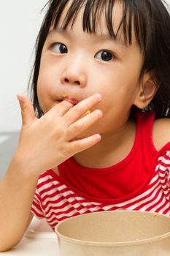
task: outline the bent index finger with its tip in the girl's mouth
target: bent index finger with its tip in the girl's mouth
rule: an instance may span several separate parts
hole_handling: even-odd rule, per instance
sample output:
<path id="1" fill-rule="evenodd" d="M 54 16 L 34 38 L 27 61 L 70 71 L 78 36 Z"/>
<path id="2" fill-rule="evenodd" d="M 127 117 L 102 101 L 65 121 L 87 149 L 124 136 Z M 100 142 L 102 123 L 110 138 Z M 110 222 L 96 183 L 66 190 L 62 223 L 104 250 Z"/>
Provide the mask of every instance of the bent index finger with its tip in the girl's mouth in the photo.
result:
<path id="1" fill-rule="evenodd" d="M 58 103 L 58 105 L 55 105 L 55 107 L 51 108 L 49 113 L 54 113 L 55 116 L 61 117 L 72 107 L 73 104 L 71 102 L 63 100 L 62 102 Z"/>

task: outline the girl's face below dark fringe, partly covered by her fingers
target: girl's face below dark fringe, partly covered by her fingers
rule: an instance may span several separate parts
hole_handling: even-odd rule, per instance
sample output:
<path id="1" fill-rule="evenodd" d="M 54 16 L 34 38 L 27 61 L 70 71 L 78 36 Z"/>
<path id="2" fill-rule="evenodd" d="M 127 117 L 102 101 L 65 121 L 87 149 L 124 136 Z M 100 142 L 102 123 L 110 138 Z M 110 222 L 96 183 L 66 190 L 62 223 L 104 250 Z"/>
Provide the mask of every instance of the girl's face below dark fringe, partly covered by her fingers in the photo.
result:
<path id="1" fill-rule="evenodd" d="M 96 108 L 102 110 L 103 118 L 83 136 L 114 134 L 125 126 L 131 106 L 136 104 L 142 53 L 134 36 L 130 46 L 125 46 L 123 34 L 118 34 L 117 40 L 110 38 L 104 17 L 96 34 L 83 31 L 82 12 L 72 29 L 58 27 L 47 36 L 37 84 L 39 103 L 46 113 L 64 98 L 80 102 L 99 93 L 102 101 Z M 122 17 L 120 4 L 115 4 L 113 17 L 117 31 Z"/>

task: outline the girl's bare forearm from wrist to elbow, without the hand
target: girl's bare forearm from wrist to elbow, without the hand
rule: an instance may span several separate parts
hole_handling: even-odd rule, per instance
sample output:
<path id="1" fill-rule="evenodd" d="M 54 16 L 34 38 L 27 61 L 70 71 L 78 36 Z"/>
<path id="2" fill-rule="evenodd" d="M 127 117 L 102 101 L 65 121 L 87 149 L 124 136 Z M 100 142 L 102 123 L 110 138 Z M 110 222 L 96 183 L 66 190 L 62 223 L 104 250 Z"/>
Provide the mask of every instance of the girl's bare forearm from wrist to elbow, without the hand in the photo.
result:
<path id="1" fill-rule="evenodd" d="M 0 252 L 18 244 L 32 219 L 36 178 L 24 174 L 25 169 L 14 157 L 0 181 Z"/>

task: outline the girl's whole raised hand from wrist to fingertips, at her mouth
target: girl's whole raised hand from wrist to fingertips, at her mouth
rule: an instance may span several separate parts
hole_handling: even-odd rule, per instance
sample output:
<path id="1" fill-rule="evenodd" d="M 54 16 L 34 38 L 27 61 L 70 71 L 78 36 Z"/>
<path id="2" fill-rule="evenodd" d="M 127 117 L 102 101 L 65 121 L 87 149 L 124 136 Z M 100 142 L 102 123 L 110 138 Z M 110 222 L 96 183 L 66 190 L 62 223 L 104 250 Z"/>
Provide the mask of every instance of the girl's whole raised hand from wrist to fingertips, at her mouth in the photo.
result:
<path id="1" fill-rule="evenodd" d="M 63 100 L 41 118 L 36 118 L 32 102 L 26 95 L 18 94 L 18 100 L 23 125 L 17 154 L 20 161 L 28 165 L 28 170 L 40 174 L 101 140 L 98 134 L 76 140 L 77 135 L 102 117 L 101 110 L 85 115 L 101 101 L 100 94 L 94 94 L 77 105 Z"/>

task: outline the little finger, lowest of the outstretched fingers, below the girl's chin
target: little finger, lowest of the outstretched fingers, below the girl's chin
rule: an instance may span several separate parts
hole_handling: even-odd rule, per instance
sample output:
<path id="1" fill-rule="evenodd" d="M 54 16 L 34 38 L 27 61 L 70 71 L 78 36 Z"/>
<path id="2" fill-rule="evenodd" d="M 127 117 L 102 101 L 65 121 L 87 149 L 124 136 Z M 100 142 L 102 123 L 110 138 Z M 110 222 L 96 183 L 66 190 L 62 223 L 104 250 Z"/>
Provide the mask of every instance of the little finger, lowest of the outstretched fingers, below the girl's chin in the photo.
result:
<path id="1" fill-rule="evenodd" d="M 96 145 L 96 143 L 98 143 L 101 140 L 101 135 L 92 135 L 88 138 L 83 138 L 81 140 L 74 140 L 72 141 L 69 146 L 70 146 L 70 150 L 72 151 L 72 156 L 74 154 L 77 154 L 81 151 L 84 151 L 85 149 L 88 149 L 94 145 Z"/>

